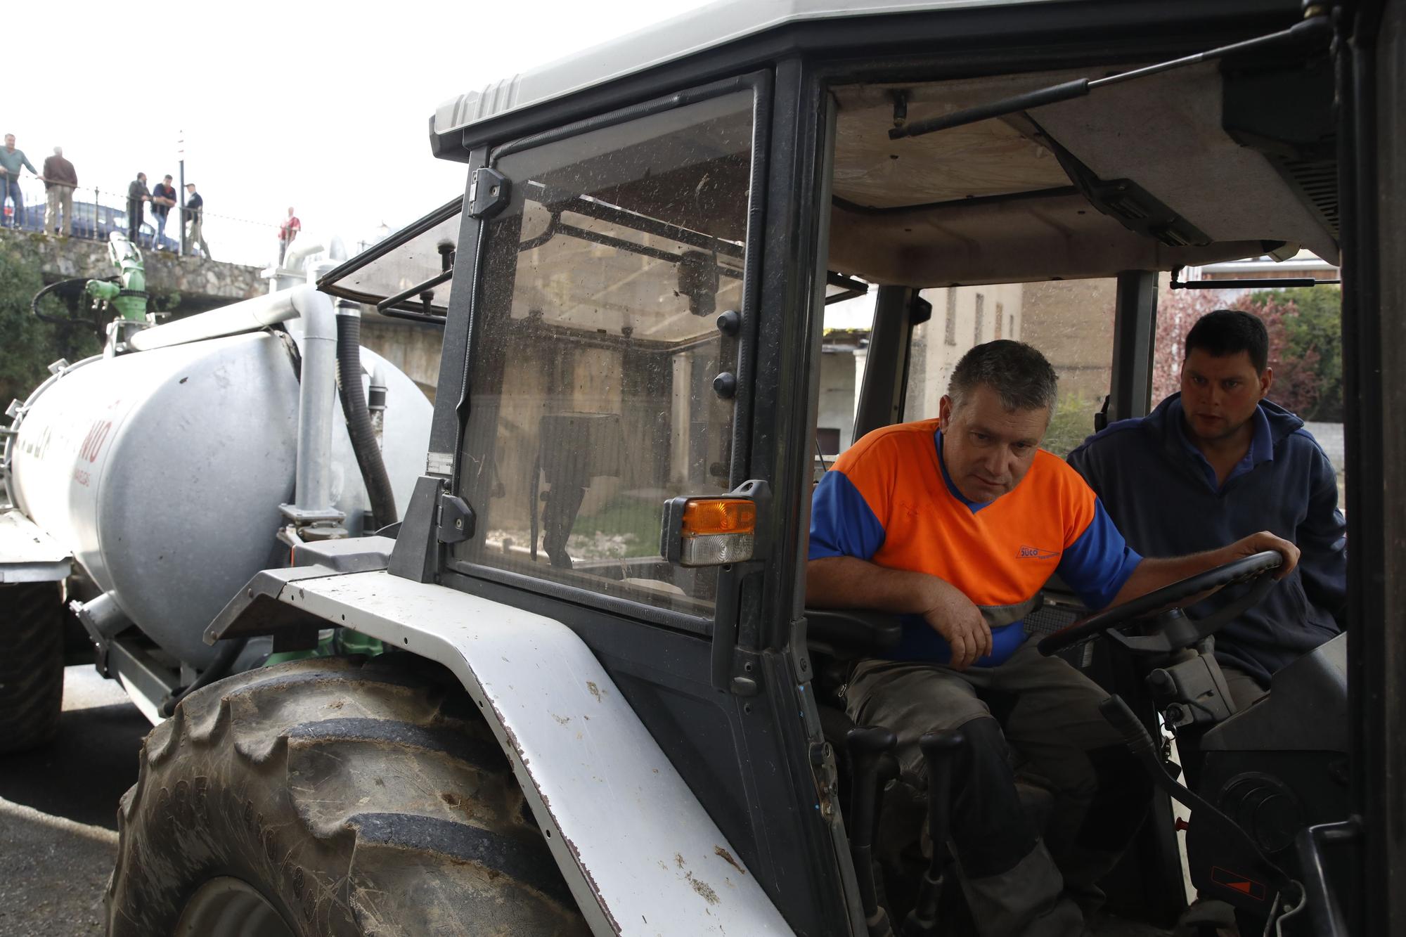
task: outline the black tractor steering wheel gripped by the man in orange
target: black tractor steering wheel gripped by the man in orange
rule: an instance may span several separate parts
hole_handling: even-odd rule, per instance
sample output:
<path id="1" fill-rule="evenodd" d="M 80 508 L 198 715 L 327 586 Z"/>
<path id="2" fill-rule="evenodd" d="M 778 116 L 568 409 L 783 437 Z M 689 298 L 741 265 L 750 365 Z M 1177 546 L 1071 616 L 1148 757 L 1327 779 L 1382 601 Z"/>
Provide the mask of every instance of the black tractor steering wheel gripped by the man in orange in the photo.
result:
<path id="1" fill-rule="evenodd" d="M 1139 654 L 1161 654 L 1178 647 L 1191 647 L 1263 599 L 1274 587 L 1274 570 L 1281 566 L 1284 566 L 1284 557 L 1274 550 L 1232 560 L 1213 570 L 1198 573 L 1139 595 L 1122 605 L 1083 618 L 1040 640 L 1039 651 L 1049 657 L 1105 635 Z M 1189 618 L 1178 605 L 1191 597 L 1198 597 L 1199 601 L 1204 598 L 1202 592 L 1215 592 L 1236 582 L 1253 582 L 1253 587 L 1206 618 Z M 1119 630 L 1143 620 L 1153 622 L 1154 627 L 1150 633 L 1129 635 Z"/>

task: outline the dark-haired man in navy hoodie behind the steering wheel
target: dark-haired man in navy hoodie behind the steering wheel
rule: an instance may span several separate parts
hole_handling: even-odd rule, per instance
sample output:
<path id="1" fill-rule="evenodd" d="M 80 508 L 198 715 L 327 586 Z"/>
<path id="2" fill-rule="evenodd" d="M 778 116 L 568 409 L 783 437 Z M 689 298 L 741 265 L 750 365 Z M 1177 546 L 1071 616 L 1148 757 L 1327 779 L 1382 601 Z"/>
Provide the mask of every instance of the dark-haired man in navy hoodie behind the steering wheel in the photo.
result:
<path id="1" fill-rule="evenodd" d="M 1181 393 L 1069 456 L 1143 556 L 1212 550 L 1256 530 L 1299 547 L 1298 568 L 1216 633 L 1237 709 L 1263 696 L 1277 670 L 1337 635 L 1347 599 L 1337 478 L 1303 421 L 1265 400 L 1274 383 L 1268 352 L 1257 317 L 1204 315 L 1187 335 Z M 1215 595 L 1192 613 L 1202 618 L 1227 601 Z"/>

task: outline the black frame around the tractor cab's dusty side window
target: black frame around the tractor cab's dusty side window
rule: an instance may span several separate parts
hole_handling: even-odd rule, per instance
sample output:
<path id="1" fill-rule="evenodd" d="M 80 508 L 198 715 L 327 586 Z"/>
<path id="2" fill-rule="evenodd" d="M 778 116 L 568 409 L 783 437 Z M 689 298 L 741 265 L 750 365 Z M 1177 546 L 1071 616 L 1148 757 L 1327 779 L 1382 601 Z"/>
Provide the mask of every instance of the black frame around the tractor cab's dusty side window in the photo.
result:
<path id="1" fill-rule="evenodd" d="M 475 148 L 470 159 L 470 179 L 472 179 L 472 170 L 481 166 L 494 167 L 498 160 L 512 153 L 519 153 L 526 149 L 544 146 L 547 144 L 554 144 L 562 139 L 578 136 L 591 131 L 598 131 L 609 127 L 616 127 L 626 124 L 631 120 L 638 120 L 643 117 L 650 117 L 652 114 L 661 114 L 665 111 L 676 110 L 689 104 L 699 101 L 711 100 L 716 97 L 723 97 L 725 94 L 733 94 L 737 91 L 749 91 L 752 94 L 752 165 L 749 173 L 749 190 L 748 190 L 748 210 L 747 210 L 747 235 L 744 239 L 744 259 L 742 259 L 742 329 L 737 335 L 738 350 L 737 350 L 737 395 L 734 398 L 734 415 L 733 415 L 733 435 L 731 435 L 731 466 L 728 468 L 728 487 L 737 488 L 744 481 L 747 481 L 747 467 L 751 460 L 752 439 L 751 439 L 751 423 L 752 423 L 752 405 L 754 394 L 752 385 L 756 378 L 755 362 L 758 360 L 758 328 L 756 322 L 759 318 L 759 304 L 761 304 L 761 280 L 762 280 L 762 256 L 765 253 L 763 245 L 763 218 L 765 218 L 765 200 L 766 200 L 766 174 L 770 165 L 770 122 L 772 122 L 772 91 L 773 91 L 775 77 L 770 69 L 749 70 L 747 73 L 714 80 L 704 84 L 697 84 L 692 87 L 679 89 L 676 91 L 657 96 L 651 100 L 643 101 L 640 104 L 614 108 L 605 111 L 602 114 L 572 121 L 562 127 L 553 128 L 550 131 L 538 134 L 527 134 L 524 136 L 517 136 L 512 139 L 502 141 L 492 146 Z M 470 388 L 474 381 L 474 348 L 479 340 L 478 329 L 481 328 L 479 318 L 474 314 L 477 304 L 479 302 L 482 294 L 484 281 L 484 256 L 482 256 L 482 242 L 484 242 L 484 225 L 488 219 L 472 218 L 464 215 L 464 231 L 461 231 L 460 245 L 463 250 L 461 257 L 472 256 L 472 286 L 467 291 L 467 328 L 464 329 L 465 343 L 463 346 L 461 357 L 458 359 L 460 366 L 456 371 L 460 377 L 460 400 L 454 408 L 457 416 L 454 425 L 453 443 L 444 446 L 446 454 L 453 457 L 453 474 L 450 480 L 450 490 L 453 492 L 461 491 L 461 450 L 464 445 L 464 435 L 468 428 L 468 421 L 471 419 L 472 400 L 470 398 Z M 472 232 L 468 227 L 472 225 Z M 472 253 L 470 255 L 470 250 Z M 454 297 L 450 300 L 454 301 Z M 450 355 L 449 333 L 446 333 L 446 356 Z M 460 352 L 456 349 L 456 356 Z M 447 409 L 447 408 L 444 408 Z M 437 409 L 439 412 L 439 409 Z M 444 426 L 443 431 L 447 431 Z M 449 442 L 447 432 L 440 432 L 436 436 L 432 432 L 430 450 L 437 452 L 434 442 L 443 440 Z M 661 521 L 662 521 L 662 502 L 661 502 Z M 727 580 L 731 578 L 733 570 L 730 567 L 723 567 L 718 573 L 717 584 L 717 598 L 713 606 L 713 616 L 703 618 L 689 615 L 686 612 L 678 612 L 673 609 L 658 608 L 644 602 L 631 601 L 628 598 L 605 595 L 602 592 L 593 591 L 591 588 L 571 585 L 567 582 L 558 582 L 541 577 L 529 575 L 524 573 L 516 573 L 512 570 L 503 570 L 499 567 L 485 566 L 481 563 L 472 563 L 456 556 L 446 556 L 443 568 L 449 573 L 465 575 L 471 580 L 486 580 L 489 582 L 496 582 L 501 585 L 508 585 L 524 592 L 544 595 L 553 599 L 567 601 L 576 605 L 583 605 L 589 608 L 607 612 L 610 615 L 630 619 L 634 622 L 662 626 L 690 635 L 697 635 L 702 637 L 709 637 L 718 633 L 735 633 L 737 618 L 738 618 L 738 604 L 735 601 L 728 601 L 727 597 L 735 595 L 735 589 L 728 588 Z"/>

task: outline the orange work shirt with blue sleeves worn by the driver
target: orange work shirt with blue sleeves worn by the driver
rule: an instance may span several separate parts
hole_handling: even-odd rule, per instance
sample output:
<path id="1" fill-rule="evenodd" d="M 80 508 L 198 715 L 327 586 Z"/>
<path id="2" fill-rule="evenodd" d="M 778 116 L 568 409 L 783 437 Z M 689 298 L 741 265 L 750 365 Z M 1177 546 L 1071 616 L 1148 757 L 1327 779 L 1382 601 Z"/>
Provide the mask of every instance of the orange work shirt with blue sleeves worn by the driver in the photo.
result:
<path id="1" fill-rule="evenodd" d="M 935 419 L 876 429 L 821 477 L 810 559 L 830 556 L 927 573 L 962 589 L 991 625 L 993 651 L 980 667 L 1001 664 L 1025 642 L 1021 619 L 1052 574 L 1099 609 L 1142 561 L 1080 474 L 1045 450 L 1014 490 L 967 501 L 942 463 Z M 935 663 L 950 656 L 921 615 L 903 616 L 903 640 L 886 654 Z"/>

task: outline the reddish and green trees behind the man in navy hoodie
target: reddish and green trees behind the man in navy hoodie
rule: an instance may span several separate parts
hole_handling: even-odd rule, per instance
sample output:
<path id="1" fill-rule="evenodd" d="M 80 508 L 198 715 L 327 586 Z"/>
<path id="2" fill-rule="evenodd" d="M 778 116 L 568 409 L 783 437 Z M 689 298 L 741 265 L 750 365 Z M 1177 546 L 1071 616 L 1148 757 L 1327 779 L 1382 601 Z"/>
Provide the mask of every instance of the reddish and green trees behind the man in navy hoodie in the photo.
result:
<path id="1" fill-rule="evenodd" d="M 1331 287 L 1265 290 L 1226 298 L 1222 290 L 1178 290 L 1157 307 L 1153 400 L 1181 390 L 1187 333 L 1206 312 L 1243 310 L 1270 333 L 1270 397 L 1303 419 L 1343 418 L 1341 294 Z"/>

